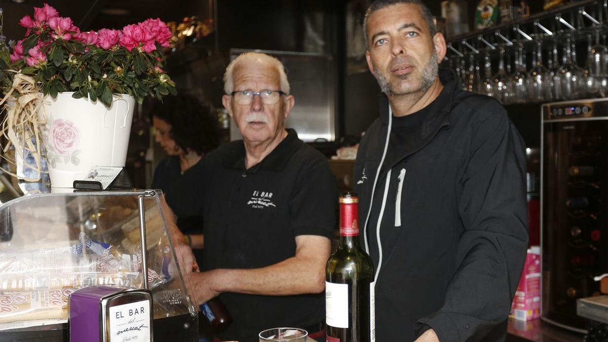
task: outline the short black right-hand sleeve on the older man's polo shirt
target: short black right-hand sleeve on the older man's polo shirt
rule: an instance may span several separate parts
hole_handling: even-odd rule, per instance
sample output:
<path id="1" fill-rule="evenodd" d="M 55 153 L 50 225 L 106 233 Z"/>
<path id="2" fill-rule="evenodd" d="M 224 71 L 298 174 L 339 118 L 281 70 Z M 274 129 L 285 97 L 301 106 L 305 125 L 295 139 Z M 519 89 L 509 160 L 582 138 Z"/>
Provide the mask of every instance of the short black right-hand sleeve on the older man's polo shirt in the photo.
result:
<path id="1" fill-rule="evenodd" d="M 320 156 L 303 166 L 289 201 L 294 236 L 320 235 L 331 239 L 336 224 L 337 186 L 328 162 Z"/>

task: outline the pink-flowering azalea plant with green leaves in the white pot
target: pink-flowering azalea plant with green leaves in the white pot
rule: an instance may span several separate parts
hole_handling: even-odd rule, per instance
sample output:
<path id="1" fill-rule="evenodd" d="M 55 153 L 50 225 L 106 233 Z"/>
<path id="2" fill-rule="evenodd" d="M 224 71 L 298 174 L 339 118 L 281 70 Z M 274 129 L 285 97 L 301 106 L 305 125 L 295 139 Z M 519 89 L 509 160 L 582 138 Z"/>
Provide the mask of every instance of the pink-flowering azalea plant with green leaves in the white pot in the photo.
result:
<path id="1" fill-rule="evenodd" d="M 162 99 L 176 92 L 162 69 L 161 48 L 169 46 L 171 32 L 160 19 L 122 30 L 81 32 L 72 19 L 44 4 L 19 24 L 27 29 L 26 37 L 13 47 L 8 65 L 0 60 L 0 68 L 32 76 L 44 95 L 73 91 L 72 97 L 89 97 L 109 107 L 112 94 L 132 95 L 142 103 L 147 96 Z M 3 76 L 10 88 L 14 73 Z"/>

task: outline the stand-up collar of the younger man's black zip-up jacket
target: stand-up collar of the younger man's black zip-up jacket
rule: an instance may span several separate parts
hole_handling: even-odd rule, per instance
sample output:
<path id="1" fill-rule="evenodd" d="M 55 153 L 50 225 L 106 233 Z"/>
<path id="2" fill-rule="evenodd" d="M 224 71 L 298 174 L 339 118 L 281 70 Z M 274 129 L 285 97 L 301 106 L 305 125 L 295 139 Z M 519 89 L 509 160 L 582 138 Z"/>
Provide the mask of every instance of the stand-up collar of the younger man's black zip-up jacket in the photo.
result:
<path id="1" fill-rule="evenodd" d="M 460 82 L 458 82 L 454 71 L 451 69 L 439 69 L 439 80 L 443 84 L 443 90 L 440 96 L 446 96 L 444 103 L 437 103 L 437 100 L 430 103 L 429 106 L 437 106 L 434 110 L 424 118 L 421 135 L 426 136 L 433 133 L 437 127 L 449 125 L 449 113 L 454 106 L 454 97 L 460 91 Z M 380 120 L 382 124 L 389 124 L 389 98 L 383 93 L 378 96 L 378 106 L 380 111 Z"/>

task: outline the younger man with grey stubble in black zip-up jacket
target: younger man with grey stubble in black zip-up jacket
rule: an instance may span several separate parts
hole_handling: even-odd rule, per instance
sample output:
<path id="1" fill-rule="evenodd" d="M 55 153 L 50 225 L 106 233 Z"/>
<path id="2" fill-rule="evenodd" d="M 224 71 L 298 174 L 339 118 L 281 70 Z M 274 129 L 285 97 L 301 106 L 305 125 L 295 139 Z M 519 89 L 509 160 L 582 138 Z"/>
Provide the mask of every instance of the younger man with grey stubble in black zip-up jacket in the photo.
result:
<path id="1" fill-rule="evenodd" d="M 528 243 L 523 141 L 491 97 L 439 71 L 420 0 L 365 16 L 385 97 L 355 167 L 376 267 L 377 341 L 502 341 Z"/>

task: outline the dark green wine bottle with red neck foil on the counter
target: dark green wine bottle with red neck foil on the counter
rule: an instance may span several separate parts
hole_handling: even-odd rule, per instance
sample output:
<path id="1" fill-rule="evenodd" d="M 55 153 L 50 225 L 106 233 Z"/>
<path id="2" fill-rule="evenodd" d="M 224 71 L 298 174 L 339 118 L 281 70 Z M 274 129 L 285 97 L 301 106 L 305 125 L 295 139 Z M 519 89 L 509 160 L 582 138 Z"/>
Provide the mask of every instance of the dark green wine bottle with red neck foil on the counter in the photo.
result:
<path id="1" fill-rule="evenodd" d="M 327 342 L 373 342 L 374 267 L 359 245 L 359 199 L 340 195 L 340 245 L 325 268 Z"/>

